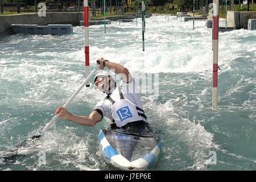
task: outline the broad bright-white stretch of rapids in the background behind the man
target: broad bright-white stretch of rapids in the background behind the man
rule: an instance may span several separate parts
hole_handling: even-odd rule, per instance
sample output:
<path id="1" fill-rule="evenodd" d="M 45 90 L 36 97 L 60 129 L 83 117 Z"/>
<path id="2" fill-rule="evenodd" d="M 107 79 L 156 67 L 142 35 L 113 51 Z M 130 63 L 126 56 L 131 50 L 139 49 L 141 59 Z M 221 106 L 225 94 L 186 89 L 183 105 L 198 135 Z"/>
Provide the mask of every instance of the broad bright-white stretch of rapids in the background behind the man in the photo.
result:
<path id="1" fill-rule="evenodd" d="M 141 19 L 138 21 L 141 24 Z M 106 59 L 117 61 L 134 72 L 205 72 L 212 69 L 212 29 L 205 28 L 205 21 L 196 21 L 195 31 L 192 30 L 192 22 L 180 22 L 174 18 L 167 23 L 164 16 L 152 16 L 146 19 L 146 23 L 144 52 L 141 29 L 133 28 L 135 22 L 122 26 L 113 23 L 109 29 L 118 28 L 123 31 L 115 32 L 116 38 L 109 40 L 113 47 L 98 49 L 92 42 L 92 60 L 104 55 Z M 112 32 L 109 34 L 112 35 Z M 249 46 L 235 37 L 250 36 L 255 36 L 255 31 L 220 32 L 219 64 L 228 67 Z M 104 35 L 100 37 L 105 39 Z M 114 39 L 118 40 L 118 45 L 122 43 L 123 46 L 116 47 Z"/>

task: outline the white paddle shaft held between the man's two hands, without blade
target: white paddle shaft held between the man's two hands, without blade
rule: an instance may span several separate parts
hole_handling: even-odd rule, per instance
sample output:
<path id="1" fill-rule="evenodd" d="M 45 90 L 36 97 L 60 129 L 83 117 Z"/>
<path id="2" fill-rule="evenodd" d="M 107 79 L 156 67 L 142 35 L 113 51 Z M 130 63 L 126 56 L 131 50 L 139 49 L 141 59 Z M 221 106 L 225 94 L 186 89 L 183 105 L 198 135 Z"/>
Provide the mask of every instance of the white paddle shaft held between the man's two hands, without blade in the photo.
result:
<path id="1" fill-rule="evenodd" d="M 80 85 L 79 89 L 76 90 L 75 93 L 73 93 L 73 95 L 69 98 L 69 100 L 64 104 L 63 107 L 67 107 L 72 101 L 73 99 L 77 96 L 77 94 L 81 91 L 82 88 L 84 88 L 84 86 L 88 83 L 88 81 L 90 80 L 90 78 L 93 76 L 93 74 L 98 71 L 99 67 L 95 68 L 92 73 L 90 73 L 90 75 L 85 79 L 84 82 L 82 82 L 82 84 Z M 61 114 L 61 113 L 60 113 Z M 43 132 L 47 131 L 50 127 L 52 127 L 52 125 L 55 124 L 56 119 L 59 118 L 60 114 L 56 114 L 52 120 L 46 125 L 46 127 L 44 127 Z"/>

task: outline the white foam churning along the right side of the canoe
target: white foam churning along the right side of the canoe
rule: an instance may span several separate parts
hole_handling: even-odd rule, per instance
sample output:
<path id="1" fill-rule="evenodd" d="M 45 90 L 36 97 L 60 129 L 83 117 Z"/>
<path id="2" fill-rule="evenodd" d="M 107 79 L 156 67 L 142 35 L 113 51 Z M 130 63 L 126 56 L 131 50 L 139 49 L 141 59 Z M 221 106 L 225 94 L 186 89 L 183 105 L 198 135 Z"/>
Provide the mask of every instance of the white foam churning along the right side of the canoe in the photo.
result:
<path id="1" fill-rule="evenodd" d="M 173 106 L 173 101 L 164 104 L 151 103 L 146 105 L 146 109 L 151 110 L 150 115 L 157 115 L 152 118 L 151 124 L 159 125 L 170 135 L 170 138 L 179 140 L 180 144 L 185 144 L 185 151 L 172 150 L 172 143 L 164 142 L 164 150 L 172 152 L 166 153 L 166 159 L 172 159 L 173 155 L 184 155 L 183 158 L 192 160 L 192 165 L 184 167 L 184 170 L 205 170 L 209 164 L 209 151 L 217 150 L 218 145 L 213 142 L 214 135 L 204 129 L 200 123 L 194 123 L 179 115 L 179 108 Z M 157 124 L 155 122 L 158 122 Z M 159 123 L 160 122 L 160 123 Z M 170 147 L 170 148 L 169 148 Z"/>

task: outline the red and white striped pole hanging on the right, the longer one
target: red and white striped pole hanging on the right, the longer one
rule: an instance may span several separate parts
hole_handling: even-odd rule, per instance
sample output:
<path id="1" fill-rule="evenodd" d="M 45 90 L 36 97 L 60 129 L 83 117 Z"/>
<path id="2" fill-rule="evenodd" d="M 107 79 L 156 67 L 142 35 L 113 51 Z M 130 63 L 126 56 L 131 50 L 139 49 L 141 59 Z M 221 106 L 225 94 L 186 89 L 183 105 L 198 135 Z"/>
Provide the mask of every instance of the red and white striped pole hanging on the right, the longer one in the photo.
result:
<path id="1" fill-rule="evenodd" d="M 213 89 L 212 108 L 217 109 L 217 88 L 218 88 L 218 3 L 213 0 Z"/>

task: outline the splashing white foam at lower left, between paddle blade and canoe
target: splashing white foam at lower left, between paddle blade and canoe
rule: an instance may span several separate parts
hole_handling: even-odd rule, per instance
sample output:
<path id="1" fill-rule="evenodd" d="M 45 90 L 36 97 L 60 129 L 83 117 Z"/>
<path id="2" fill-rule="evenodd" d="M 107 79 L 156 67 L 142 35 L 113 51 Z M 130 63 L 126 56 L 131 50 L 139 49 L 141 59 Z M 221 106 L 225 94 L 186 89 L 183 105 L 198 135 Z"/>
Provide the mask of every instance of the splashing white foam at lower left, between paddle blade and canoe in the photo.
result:
<path id="1" fill-rule="evenodd" d="M 40 141 L 34 141 L 19 148 L 19 155 L 31 155 L 31 158 L 35 160 L 36 165 L 28 166 L 28 169 L 44 169 L 45 164 L 39 164 L 39 154 L 43 152 L 46 156 L 47 166 L 54 166 L 57 160 L 59 163 L 57 168 L 59 169 L 73 166 L 79 170 L 99 170 L 98 156 L 90 149 L 94 143 L 90 137 L 91 134 L 79 137 L 75 134 L 76 129 L 73 127 L 58 130 L 54 133 L 48 131 Z"/>

